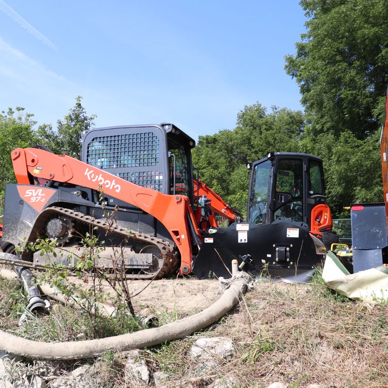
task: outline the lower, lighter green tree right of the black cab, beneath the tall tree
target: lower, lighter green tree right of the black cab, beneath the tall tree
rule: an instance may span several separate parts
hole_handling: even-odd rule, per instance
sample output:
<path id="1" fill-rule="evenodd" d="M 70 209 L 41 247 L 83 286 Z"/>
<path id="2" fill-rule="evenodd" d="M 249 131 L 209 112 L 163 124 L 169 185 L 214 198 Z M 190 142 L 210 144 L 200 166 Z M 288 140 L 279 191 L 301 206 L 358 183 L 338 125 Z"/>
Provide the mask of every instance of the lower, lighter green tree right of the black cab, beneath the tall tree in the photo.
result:
<path id="1" fill-rule="evenodd" d="M 364 140 L 348 130 L 312 135 L 307 129 L 300 143 L 302 152 L 323 159 L 327 203 L 334 217 L 349 218 L 345 206 L 379 202 L 383 197 L 380 164 L 380 133 Z"/>

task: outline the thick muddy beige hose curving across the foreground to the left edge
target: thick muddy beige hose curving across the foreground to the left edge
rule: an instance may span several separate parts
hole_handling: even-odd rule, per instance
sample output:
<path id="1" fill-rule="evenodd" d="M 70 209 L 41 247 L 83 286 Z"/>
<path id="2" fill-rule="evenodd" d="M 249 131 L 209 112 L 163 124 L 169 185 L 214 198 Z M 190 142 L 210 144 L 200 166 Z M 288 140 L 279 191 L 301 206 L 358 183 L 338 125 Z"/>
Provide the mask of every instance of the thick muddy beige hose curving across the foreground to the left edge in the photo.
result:
<path id="1" fill-rule="evenodd" d="M 0 275 L 3 271 L 0 271 Z M 221 297 L 210 307 L 190 317 L 160 327 L 123 334 L 116 337 L 72 342 L 39 342 L 17 337 L 0 330 L 0 349 L 29 358 L 67 360 L 99 356 L 109 351 L 126 351 L 155 346 L 183 338 L 202 330 L 226 314 L 247 290 L 251 277 L 239 272 L 229 280 Z"/>

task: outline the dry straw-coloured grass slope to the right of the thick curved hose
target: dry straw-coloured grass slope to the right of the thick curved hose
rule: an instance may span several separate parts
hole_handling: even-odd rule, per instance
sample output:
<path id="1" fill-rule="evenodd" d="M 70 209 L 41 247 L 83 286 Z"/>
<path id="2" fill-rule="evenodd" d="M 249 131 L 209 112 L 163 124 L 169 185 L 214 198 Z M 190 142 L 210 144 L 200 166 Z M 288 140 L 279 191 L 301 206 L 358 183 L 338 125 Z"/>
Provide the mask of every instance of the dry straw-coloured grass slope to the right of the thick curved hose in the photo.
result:
<path id="1" fill-rule="evenodd" d="M 20 292 L 13 285 L 12 292 Z M 8 310 L 10 318 L 16 306 Z M 388 387 L 387 312 L 385 304 L 370 309 L 349 301 L 320 279 L 306 285 L 261 283 L 206 332 L 142 350 L 141 356 L 151 371 L 169 374 L 166 388 L 206 387 L 227 375 L 237 378 L 241 388 L 267 387 L 275 381 L 289 388 Z M 7 312 L 2 315 L 5 318 Z M 229 362 L 214 357 L 214 365 L 203 370 L 189 355 L 201 336 L 233 339 L 235 357 Z M 128 386 L 125 362 L 123 354 L 97 360 L 94 386 Z"/>

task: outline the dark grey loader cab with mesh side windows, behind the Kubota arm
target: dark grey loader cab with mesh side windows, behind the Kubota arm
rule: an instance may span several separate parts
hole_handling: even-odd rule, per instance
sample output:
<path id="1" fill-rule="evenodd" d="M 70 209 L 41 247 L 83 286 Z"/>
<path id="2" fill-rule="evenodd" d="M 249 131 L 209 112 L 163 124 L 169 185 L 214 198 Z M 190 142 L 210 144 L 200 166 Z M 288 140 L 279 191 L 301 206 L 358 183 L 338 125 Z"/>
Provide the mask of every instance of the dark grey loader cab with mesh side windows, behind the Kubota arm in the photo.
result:
<path id="1" fill-rule="evenodd" d="M 163 194 L 187 195 L 193 205 L 194 146 L 171 123 L 97 128 L 84 133 L 82 161 Z"/>

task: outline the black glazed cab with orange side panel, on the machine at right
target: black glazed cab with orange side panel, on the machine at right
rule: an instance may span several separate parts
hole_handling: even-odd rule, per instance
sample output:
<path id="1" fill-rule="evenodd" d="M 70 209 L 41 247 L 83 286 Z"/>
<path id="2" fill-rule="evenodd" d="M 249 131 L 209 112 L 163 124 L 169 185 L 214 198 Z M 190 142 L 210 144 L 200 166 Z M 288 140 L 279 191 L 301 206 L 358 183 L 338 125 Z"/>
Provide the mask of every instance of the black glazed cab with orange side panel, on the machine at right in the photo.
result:
<path id="1" fill-rule="evenodd" d="M 309 227 L 317 224 L 316 231 L 322 234 L 325 227 L 331 228 L 330 210 L 325 204 L 322 159 L 302 153 L 270 152 L 253 163 L 249 222 L 262 225 L 290 218 Z"/>

